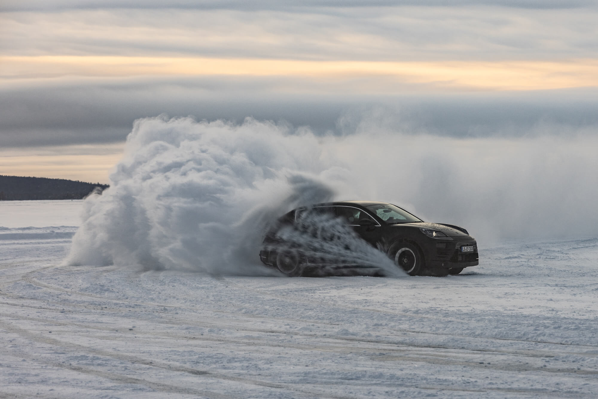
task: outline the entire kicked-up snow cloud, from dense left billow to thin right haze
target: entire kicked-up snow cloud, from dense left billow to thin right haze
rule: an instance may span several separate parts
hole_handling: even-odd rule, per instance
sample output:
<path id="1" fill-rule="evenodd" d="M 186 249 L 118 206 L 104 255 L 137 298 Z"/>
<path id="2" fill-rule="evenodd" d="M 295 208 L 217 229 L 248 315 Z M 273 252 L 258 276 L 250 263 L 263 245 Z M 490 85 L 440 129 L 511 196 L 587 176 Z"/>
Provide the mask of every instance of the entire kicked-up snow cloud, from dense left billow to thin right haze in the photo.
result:
<path id="1" fill-rule="evenodd" d="M 266 226 L 329 199 L 395 203 L 466 227 L 481 247 L 598 233 L 596 135 L 407 135 L 367 119 L 345 129 L 138 120 L 111 187 L 84 202 L 67 261 L 267 273 L 258 260 Z"/>

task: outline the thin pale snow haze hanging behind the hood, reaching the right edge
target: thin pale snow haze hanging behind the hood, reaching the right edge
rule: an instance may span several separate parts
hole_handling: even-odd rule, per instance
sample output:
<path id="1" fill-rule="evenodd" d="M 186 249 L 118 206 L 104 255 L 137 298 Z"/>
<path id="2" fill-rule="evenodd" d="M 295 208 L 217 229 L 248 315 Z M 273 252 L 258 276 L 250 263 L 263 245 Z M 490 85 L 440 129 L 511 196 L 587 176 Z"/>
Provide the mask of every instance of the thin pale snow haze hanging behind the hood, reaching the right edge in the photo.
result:
<path id="1" fill-rule="evenodd" d="M 481 247 L 598 234 L 598 127 L 523 138 L 366 132 L 337 145 L 341 163 L 362 162 L 350 172 L 355 197 L 465 227 Z M 364 156 L 368 146 L 376 148 L 375 156 Z"/>

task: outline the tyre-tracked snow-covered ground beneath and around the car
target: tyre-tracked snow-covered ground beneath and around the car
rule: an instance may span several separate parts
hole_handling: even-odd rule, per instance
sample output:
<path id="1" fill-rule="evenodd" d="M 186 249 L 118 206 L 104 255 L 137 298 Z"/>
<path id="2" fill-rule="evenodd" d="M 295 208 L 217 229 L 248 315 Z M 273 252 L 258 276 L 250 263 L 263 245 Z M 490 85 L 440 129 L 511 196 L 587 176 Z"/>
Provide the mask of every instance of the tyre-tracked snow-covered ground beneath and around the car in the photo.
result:
<path id="1" fill-rule="evenodd" d="M 0 203 L 2 397 L 598 395 L 596 237 L 481 248 L 445 278 L 215 278 L 60 266 L 72 219 L 40 202 L 13 223 L 18 205 Z"/>

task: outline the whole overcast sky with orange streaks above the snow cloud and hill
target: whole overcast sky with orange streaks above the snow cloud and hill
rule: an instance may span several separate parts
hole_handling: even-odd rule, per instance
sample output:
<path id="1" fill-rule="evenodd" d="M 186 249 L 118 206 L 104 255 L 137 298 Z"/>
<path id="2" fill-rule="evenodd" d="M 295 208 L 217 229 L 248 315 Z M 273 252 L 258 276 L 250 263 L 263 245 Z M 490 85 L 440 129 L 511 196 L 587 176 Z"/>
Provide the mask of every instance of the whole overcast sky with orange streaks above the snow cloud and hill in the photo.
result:
<path id="1" fill-rule="evenodd" d="M 595 135 L 598 2 L 0 3 L 0 174 L 108 182 L 133 121 Z"/>

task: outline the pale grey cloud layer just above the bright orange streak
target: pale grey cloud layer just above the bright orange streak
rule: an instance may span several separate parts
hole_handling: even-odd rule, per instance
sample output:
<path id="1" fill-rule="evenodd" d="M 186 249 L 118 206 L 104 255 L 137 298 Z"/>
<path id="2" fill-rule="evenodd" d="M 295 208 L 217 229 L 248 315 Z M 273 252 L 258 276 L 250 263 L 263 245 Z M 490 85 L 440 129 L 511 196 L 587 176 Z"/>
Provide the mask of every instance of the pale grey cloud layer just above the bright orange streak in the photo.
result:
<path id="1" fill-rule="evenodd" d="M 598 54 L 598 10 L 350 7 L 0 14 L 11 55 L 304 60 L 559 60 Z M 34 28 L 33 28 L 34 27 Z"/>

